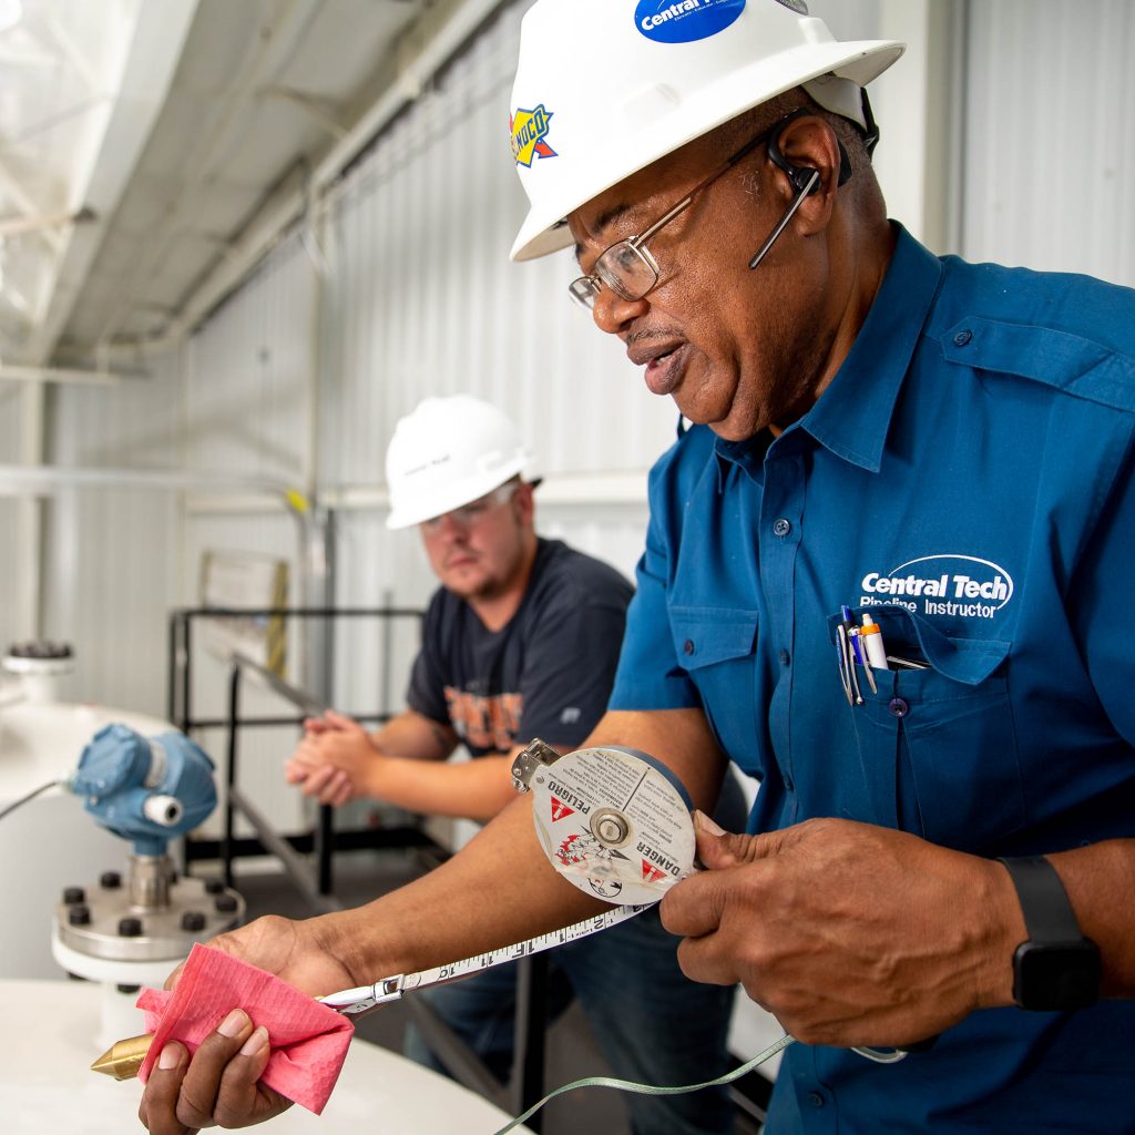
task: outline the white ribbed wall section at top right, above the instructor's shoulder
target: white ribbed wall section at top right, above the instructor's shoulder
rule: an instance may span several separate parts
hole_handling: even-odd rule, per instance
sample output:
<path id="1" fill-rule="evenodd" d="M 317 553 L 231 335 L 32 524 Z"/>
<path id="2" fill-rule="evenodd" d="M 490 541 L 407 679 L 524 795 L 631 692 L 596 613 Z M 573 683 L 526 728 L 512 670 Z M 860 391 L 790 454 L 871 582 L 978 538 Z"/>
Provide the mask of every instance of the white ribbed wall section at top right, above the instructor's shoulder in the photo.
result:
<path id="1" fill-rule="evenodd" d="M 1135 285 L 1135 5 L 968 6 L 970 260 Z"/>

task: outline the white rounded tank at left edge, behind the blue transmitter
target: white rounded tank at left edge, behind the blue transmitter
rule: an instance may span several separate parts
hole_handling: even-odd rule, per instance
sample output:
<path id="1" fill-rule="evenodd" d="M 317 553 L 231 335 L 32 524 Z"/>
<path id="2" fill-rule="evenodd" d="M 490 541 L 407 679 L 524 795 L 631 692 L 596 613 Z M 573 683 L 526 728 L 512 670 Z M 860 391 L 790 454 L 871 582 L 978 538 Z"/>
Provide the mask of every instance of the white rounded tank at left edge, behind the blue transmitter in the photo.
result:
<path id="1" fill-rule="evenodd" d="M 160 717 L 99 705 L 19 701 L 0 708 L 0 812 L 67 777 L 91 738 L 116 722 L 146 737 L 174 729 Z M 62 977 L 51 957 L 51 919 L 64 888 L 96 886 L 108 871 L 125 875 L 129 852 L 126 840 L 102 829 L 64 788 L 0 818 L 0 978 Z"/>

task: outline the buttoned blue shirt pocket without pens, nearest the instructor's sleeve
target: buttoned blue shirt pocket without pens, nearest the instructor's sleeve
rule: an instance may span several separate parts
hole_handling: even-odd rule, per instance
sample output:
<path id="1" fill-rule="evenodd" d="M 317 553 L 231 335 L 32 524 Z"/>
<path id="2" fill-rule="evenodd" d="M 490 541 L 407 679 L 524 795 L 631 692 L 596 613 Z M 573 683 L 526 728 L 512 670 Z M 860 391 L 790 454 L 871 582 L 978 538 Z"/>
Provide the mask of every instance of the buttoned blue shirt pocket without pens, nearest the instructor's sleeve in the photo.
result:
<path id="1" fill-rule="evenodd" d="M 756 747 L 753 689 L 757 624 L 757 612 L 743 608 L 670 611 L 678 665 L 696 687 L 717 743 L 742 768 L 743 755 L 753 754 Z"/>

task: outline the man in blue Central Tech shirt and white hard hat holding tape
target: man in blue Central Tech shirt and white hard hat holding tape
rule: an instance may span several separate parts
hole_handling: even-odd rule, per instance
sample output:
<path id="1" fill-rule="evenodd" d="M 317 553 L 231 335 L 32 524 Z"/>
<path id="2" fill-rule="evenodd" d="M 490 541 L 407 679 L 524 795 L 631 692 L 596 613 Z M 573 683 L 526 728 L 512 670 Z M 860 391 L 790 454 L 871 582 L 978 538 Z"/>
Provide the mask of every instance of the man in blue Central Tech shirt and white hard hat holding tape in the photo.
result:
<path id="1" fill-rule="evenodd" d="M 691 423 L 651 474 L 589 743 L 651 753 L 703 808 L 729 760 L 762 781 L 753 834 L 698 817 L 708 869 L 662 909 L 690 976 L 804 1042 L 774 1135 L 1133 1130 L 1135 296 L 940 260 L 888 221 L 861 87 L 900 52 L 798 0 L 526 16 L 513 255 L 574 243 L 572 295 Z M 459 898 L 529 826 L 511 806 L 414 894 Z M 524 913 L 466 905 L 461 941 L 569 916 L 513 863 Z M 313 990 L 453 952 L 379 913 L 281 932 L 286 962 L 251 927 L 222 948 Z M 221 1068 L 235 1107 L 250 1032 L 169 1053 L 152 1132 Z"/>

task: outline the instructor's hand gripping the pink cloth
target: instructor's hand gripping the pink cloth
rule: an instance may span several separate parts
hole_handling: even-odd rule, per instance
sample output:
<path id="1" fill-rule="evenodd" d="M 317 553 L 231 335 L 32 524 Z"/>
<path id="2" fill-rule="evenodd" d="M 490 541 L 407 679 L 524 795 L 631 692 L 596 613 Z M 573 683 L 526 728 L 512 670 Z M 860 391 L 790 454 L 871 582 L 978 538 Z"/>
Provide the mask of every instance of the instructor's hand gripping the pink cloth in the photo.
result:
<path id="1" fill-rule="evenodd" d="M 259 918 L 213 939 L 209 945 L 313 995 L 356 984 L 317 930 L 319 923 Z M 180 967 L 166 985 L 173 989 Z M 190 1059 L 184 1045 L 169 1042 L 146 1083 L 138 1119 L 150 1135 L 193 1135 L 202 1127 L 249 1127 L 292 1105 L 258 1083 L 268 1065 L 271 1037 L 242 1009 L 234 1010 Z"/>

